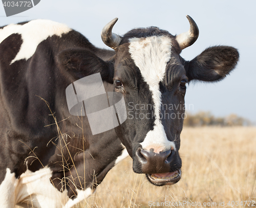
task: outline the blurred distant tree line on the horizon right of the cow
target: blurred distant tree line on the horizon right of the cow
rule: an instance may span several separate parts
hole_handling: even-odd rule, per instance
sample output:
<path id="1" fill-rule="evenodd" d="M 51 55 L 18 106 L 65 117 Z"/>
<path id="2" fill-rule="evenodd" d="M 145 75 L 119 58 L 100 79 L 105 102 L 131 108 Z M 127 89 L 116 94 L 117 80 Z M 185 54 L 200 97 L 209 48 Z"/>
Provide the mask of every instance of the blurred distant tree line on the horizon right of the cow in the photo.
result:
<path id="1" fill-rule="evenodd" d="M 198 112 L 191 114 L 186 112 L 184 126 L 250 126 L 251 121 L 236 114 L 226 117 L 215 117 L 210 112 Z"/>

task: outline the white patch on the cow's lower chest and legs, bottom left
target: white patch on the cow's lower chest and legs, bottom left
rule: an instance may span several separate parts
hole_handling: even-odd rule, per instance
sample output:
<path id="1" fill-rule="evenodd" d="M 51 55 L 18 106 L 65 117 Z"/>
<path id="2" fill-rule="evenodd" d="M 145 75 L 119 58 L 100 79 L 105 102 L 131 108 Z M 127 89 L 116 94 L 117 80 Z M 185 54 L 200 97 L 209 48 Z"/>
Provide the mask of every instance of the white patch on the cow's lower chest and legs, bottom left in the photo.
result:
<path id="1" fill-rule="evenodd" d="M 1 208 L 12 208 L 15 205 L 40 208 L 71 208 L 92 194 L 90 188 L 77 191 L 77 197 L 70 199 L 67 191 L 58 191 L 51 183 L 52 171 L 42 168 L 36 172 L 27 170 L 15 178 L 7 168 L 6 176 L 0 185 Z"/>

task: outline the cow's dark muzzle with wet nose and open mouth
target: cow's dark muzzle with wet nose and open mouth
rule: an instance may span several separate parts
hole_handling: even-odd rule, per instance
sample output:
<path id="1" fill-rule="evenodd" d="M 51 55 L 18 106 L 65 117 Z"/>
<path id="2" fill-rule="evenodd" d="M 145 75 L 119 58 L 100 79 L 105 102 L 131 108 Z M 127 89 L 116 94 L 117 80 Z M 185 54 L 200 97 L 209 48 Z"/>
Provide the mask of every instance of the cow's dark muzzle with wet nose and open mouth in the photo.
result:
<path id="1" fill-rule="evenodd" d="M 180 180 L 181 160 L 176 151 L 167 150 L 156 153 L 138 148 L 135 156 L 141 169 L 141 171 L 135 172 L 145 173 L 152 184 L 156 186 L 173 185 Z"/>

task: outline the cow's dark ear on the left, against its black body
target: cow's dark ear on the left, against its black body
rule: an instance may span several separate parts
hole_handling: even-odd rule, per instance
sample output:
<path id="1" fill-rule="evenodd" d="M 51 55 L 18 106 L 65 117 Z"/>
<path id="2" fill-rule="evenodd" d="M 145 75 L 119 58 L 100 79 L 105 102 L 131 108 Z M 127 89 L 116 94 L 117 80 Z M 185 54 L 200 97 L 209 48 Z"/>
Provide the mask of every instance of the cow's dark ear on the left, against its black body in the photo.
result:
<path id="1" fill-rule="evenodd" d="M 68 71 L 76 80 L 100 73 L 102 80 L 113 83 L 113 63 L 103 61 L 90 50 L 77 48 L 62 50 L 57 59 L 60 67 Z"/>

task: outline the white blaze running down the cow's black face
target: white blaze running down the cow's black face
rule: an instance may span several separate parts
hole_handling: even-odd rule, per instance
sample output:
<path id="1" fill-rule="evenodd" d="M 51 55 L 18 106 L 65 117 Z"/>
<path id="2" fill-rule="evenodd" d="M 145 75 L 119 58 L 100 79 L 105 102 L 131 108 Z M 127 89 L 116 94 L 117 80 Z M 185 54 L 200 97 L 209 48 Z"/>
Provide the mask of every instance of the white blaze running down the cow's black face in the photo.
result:
<path id="1" fill-rule="evenodd" d="M 170 142 L 165 134 L 160 119 L 161 92 L 159 83 L 164 79 L 165 68 L 172 53 L 172 40 L 166 36 L 152 36 L 147 38 L 130 39 L 129 52 L 136 66 L 140 69 L 144 81 L 152 92 L 154 102 L 154 129 L 147 133 L 142 148 L 155 152 L 175 149 L 174 142 Z"/>

